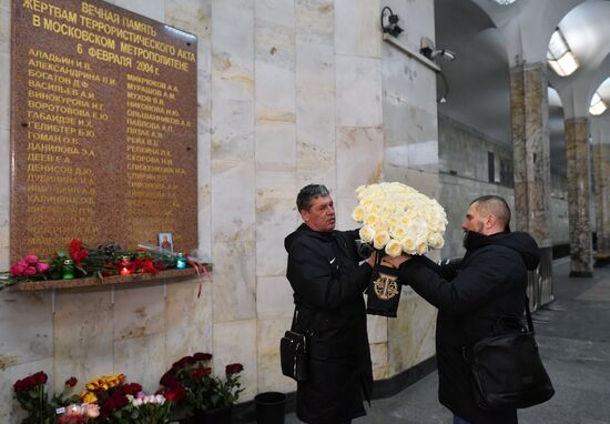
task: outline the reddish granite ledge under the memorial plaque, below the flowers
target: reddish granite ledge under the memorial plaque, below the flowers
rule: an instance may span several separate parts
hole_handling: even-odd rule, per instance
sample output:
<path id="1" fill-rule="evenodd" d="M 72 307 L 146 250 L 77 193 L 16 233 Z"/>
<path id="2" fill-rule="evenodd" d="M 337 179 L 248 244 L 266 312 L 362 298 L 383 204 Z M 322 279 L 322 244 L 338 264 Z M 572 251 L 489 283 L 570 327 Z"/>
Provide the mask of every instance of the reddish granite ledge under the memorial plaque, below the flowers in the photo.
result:
<path id="1" fill-rule="evenodd" d="M 207 272 L 212 272 L 212 264 L 206 264 L 205 267 Z M 172 280 L 181 281 L 186 277 L 196 275 L 194 267 L 187 267 L 184 270 L 165 270 L 160 271 L 156 275 L 153 274 L 130 274 L 130 275 L 112 275 L 104 279 L 99 279 L 96 276 L 89 276 L 83 279 L 74 280 L 42 280 L 42 281 L 28 281 L 26 283 L 17 283 L 12 285 L 13 291 L 19 292 L 32 292 L 39 290 L 55 290 L 55 289 L 75 289 L 75 287 L 90 287 L 90 286 L 102 286 L 102 285 L 113 285 L 113 284 L 131 284 L 140 282 L 154 282 L 162 280 Z M 203 274 L 202 277 L 206 279 Z"/>

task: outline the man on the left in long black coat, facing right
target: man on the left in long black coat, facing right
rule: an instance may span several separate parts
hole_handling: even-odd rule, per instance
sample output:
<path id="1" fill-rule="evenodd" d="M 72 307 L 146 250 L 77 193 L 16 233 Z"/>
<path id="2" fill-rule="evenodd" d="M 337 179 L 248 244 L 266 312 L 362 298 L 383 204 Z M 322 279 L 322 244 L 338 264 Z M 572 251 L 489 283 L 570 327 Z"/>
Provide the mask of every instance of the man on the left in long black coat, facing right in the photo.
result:
<path id="1" fill-rule="evenodd" d="M 293 330 L 308 335 L 308 376 L 298 382 L 296 415 L 311 424 L 344 424 L 366 415 L 373 372 L 363 291 L 374 255 L 358 265 L 357 231 L 335 230 L 333 199 L 324 185 L 301 190 L 304 223 L 284 241 L 294 290 Z"/>

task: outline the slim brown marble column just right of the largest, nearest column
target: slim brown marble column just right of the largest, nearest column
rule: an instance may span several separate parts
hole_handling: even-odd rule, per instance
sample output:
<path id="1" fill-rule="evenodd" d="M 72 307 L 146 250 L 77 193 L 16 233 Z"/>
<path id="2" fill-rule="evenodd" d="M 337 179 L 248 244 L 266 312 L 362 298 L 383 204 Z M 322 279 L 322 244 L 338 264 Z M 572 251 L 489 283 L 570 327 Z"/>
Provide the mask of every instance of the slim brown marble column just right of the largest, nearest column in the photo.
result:
<path id="1" fill-rule="evenodd" d="M 592 276 L 589 224 L 589 121 L 566 120 L 568 160 L 568 218 L 570 222 L 570 276 Z"/>

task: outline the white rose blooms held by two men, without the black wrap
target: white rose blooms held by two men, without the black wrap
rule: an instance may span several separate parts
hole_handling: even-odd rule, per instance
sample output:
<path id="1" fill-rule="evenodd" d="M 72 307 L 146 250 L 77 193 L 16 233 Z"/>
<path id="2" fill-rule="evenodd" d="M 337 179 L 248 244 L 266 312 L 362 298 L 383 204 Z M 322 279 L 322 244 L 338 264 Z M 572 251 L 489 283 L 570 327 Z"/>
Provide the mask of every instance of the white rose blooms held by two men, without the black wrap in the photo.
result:
<path id="1" fill-rule="evenodd" d="M 393 258 L 424 254 L 445 244 L 447 214 L 438 202 L 399 182 L 360 185 L 352 218 L 360 240 Z"/>

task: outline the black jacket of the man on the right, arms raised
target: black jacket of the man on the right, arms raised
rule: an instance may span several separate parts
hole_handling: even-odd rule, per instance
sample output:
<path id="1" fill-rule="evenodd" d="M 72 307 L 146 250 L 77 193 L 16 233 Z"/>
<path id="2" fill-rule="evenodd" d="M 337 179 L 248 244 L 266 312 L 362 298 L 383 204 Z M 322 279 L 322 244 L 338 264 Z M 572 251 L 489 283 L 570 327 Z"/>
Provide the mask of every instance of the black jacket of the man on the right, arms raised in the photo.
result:
<path id="1" fill-rule="evenodd" d="M 470 232 L 458 264 L 438 266 L 415 256 L 400 265 L 403 282 L 438 307 L 438 398 L 472 424 L 517 422 L 516 411 L 491 413 L 476 405 L 461 347 L 491 334 L 501 316 L 522 317 L 527 270 L 535 270 L 538 262 L 538 245 L 526 233 Z"/>

